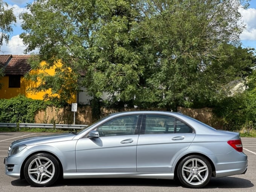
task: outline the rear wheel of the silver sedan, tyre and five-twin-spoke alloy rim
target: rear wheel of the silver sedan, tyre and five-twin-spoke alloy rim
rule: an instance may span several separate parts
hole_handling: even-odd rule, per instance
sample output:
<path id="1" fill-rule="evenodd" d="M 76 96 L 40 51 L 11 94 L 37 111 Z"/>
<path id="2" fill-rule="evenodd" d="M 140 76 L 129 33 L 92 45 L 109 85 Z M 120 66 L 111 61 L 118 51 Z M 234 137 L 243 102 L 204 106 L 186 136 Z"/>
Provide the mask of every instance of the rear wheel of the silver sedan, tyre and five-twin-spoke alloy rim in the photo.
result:
<path id="1" fill-rule="evenodd" d="M 190 155 L 181 160 L 177 169 L 180 183 L 189 188 L 202 188 L 212 177 L 212 166 L 200 155 Z"/>

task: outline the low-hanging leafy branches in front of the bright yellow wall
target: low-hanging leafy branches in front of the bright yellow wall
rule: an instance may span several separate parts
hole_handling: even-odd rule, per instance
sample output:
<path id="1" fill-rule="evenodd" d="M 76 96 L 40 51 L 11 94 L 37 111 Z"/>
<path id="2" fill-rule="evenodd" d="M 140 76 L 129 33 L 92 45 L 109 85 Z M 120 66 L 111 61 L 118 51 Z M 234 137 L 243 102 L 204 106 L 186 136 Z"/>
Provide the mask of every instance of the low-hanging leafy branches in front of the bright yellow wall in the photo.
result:
<path id="1" fill-rule="evenodd" d="M 36 82 L 36 86 L 29 87 L 27 91 L 44 91 L 44 100 L 50 100 L 58 106 L 64 106 L 75 98 L 74 93 L 78 92 L 78 88 L 74 79 L 78 74 L 74 73 L 70 67 L 61 64 L 59 60 L 52 64 L 40 62 L 36 55 L 30 57 L 28 62 L 36 70 L 27 73 L 25 78 Z"/>

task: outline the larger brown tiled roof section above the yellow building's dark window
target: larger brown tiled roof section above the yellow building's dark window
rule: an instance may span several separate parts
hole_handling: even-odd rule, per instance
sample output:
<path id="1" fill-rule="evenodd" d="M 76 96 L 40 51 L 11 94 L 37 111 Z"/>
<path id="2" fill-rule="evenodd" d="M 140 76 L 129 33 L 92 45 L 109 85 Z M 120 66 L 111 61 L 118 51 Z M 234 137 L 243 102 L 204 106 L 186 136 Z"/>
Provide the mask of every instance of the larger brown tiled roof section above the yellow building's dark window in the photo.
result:
<path id="1" fill-rule="evenodd" d="M 31 70 L 27 59 L 30 55 L 11 55 L 12 58 L 5 68 L 5 75 L 25 75 Z"/>

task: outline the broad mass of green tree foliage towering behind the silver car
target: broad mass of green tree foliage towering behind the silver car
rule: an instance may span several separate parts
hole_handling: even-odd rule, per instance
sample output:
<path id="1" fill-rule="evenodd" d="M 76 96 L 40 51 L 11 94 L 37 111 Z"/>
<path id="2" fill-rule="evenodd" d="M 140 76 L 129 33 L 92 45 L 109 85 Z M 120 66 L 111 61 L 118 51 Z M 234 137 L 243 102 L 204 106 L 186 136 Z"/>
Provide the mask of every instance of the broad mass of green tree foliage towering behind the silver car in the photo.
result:
<path id="1" fill-rule="evenodd" d="M 20 15 L 20 37 L 49 67 L 61 59 L 94 98 L 105 91 L 113 103 L 139 107 L 212 105 L 251 71 L 252 53 L 238 47 L 238 9 L 247 2 L 36 0 Z"/>

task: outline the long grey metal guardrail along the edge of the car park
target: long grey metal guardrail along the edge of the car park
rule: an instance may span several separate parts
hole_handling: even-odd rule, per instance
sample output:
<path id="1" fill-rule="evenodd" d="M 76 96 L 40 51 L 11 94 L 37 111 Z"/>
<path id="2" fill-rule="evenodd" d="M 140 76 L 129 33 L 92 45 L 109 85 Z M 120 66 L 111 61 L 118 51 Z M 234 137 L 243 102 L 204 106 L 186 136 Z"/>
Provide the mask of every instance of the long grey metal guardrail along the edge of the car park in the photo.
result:
<path id="1" fill-rule="evenodd" d="M 0 127 L 20 128 L 53 128 L 53 129 L 82 129 L 88 125 L 46 124 L 46 123 L 0 123 Z"/>

